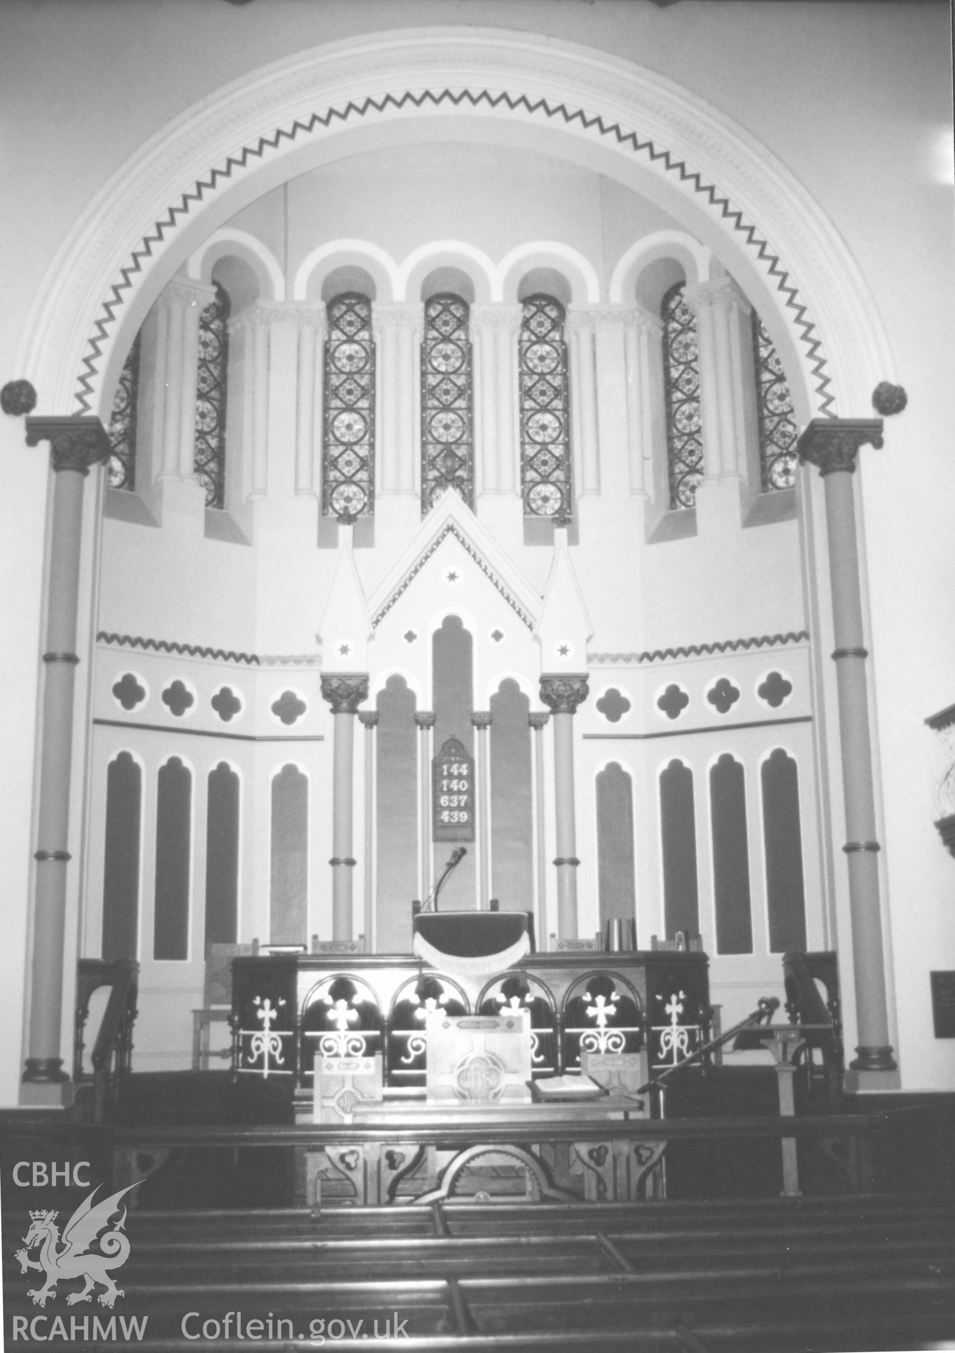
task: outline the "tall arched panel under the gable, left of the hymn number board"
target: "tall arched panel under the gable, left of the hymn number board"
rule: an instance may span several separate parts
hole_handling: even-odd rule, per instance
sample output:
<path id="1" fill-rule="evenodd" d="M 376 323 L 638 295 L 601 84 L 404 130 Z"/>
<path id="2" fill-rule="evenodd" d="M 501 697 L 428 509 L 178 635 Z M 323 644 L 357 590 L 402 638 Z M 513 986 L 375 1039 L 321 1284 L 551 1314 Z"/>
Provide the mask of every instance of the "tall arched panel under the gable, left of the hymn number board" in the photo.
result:
<path id="1" fill-rule="evenodd" d="M 403 676 L 390 676 L 379 691 L 377 739 L 377 889 L 375 948 L 411 951 L 411 902 L 418 892 L 417 702 Z"/>

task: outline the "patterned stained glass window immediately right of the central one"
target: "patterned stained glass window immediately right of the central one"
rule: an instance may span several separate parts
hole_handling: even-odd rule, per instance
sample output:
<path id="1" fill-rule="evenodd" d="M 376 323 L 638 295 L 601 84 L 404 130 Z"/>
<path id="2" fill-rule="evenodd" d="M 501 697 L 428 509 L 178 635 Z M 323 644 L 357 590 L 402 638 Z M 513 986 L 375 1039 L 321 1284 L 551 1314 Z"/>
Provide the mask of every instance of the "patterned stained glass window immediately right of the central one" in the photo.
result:
<path id="1" fill-rule="evenodd" d="M 571 429 L 564 307 L 523 302 L 518 340 L 521 490 L 528 517 L 571 515 Z"/>

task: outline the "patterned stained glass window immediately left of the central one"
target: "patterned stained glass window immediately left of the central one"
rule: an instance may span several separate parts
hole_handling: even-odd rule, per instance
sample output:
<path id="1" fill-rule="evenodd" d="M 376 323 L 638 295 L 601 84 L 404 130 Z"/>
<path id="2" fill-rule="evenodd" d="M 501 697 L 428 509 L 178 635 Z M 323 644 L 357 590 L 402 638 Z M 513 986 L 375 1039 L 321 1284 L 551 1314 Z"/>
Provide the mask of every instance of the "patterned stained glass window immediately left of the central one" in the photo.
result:
<path id="1" fill-rule="evenodd" d="M 372 303 L 353 291 L 329 302 L 322 502 L 348 521 L 375 510 Z"/>

